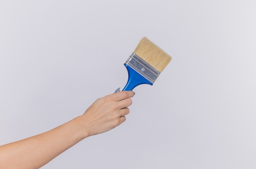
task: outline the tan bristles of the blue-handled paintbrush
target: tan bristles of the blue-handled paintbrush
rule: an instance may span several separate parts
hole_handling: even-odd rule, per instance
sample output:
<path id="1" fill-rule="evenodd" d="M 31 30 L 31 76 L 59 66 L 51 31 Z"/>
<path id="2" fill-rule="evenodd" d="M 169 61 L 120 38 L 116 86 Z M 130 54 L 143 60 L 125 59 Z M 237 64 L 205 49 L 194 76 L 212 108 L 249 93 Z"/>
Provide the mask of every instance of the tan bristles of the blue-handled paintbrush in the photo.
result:
<path id="1" fill-rule="evenodd" d="M 162 72 L 172 59 L 171 56 L 146 37 L 141 39 L 135 48 L 134 53 L 159 72 Z"/>

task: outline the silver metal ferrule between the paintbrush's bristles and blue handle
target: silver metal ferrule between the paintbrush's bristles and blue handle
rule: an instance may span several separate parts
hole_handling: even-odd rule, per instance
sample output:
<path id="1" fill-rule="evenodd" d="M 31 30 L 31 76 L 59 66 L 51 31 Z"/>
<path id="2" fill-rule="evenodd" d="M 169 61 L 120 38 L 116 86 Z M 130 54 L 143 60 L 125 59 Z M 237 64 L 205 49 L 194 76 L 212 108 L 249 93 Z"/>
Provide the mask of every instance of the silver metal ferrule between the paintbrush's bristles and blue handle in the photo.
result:
<path id="1" fill-rule="evenodd" d="M 145 62 L 135 53 L 132 53 L 125 63 L 151 83 L 154 83 L 160 74 L 159 71 L 157 71 L 150 64 Z"/>

